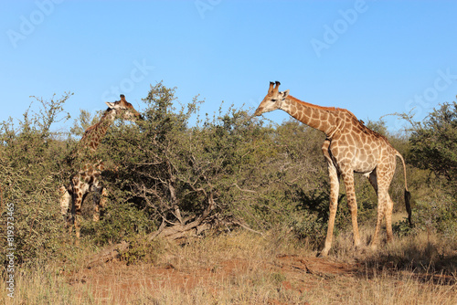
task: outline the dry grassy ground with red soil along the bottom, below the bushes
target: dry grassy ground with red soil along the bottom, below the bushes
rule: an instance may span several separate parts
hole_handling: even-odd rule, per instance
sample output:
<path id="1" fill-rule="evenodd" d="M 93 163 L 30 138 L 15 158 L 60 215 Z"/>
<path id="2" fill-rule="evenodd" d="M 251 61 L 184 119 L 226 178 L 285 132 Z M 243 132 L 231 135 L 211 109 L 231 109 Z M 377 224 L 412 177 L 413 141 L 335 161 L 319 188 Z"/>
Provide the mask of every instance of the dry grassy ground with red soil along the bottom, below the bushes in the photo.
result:
<path id="1" fill-rule="evenodd" d="M 370 230 L 362 230 L 368 242 Z M 315 258 L 285 231 L 245 231 L 185 245 L 158 244 L 154 264 L 107 263 L 16 276 L 6 304 L 457 304 L 457 246 L 427 234 L 397 238 L 372 252 L 350 233 L 330 258 Z M 83 258 L 80 257 L 80 266 Z M 422 266 L 422 267 L 420 267 Z M 0 289 L 5 291 L 5 282 Z"/>

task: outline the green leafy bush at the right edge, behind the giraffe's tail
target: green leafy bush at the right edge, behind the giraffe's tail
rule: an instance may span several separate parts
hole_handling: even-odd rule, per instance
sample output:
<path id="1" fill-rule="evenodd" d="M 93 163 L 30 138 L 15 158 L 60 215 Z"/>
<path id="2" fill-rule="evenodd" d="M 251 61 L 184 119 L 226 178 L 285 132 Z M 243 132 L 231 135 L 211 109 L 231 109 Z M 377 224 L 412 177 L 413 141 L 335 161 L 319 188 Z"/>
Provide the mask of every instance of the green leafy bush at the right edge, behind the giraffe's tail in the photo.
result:
<path id="1" fill-rule="evenodd" d="M 413 208 L 415 230 L 438 231 L 454 242 L 457 235 L 457 102 L 441 104 L 424 121 L 414 121 L 409 114 L 400 117 L 411 125 L 409 159 L 416 166 L 411 174 L 418 198 Z"/>

